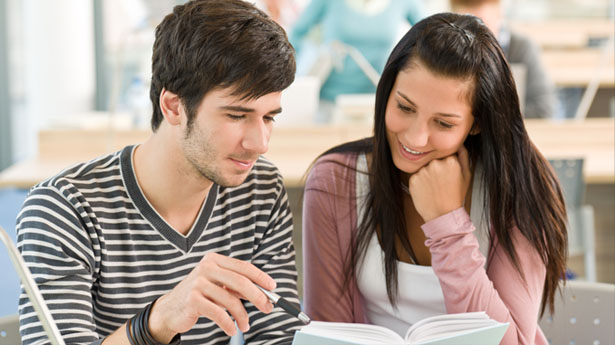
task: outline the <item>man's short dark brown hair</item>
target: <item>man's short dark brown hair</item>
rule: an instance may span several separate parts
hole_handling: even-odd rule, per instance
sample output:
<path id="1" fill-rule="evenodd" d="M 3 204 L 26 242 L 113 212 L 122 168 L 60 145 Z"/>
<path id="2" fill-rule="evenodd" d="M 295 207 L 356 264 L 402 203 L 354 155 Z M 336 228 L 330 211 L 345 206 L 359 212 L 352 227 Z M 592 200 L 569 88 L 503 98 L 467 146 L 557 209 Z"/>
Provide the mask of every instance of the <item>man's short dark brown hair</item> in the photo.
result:
<path id="1" fill-rule="evenodd" d="M 282 91 L 295 78 L 284 29 L 241 0 L 195 0 L 175 6 L 156 28 L 150 99 L 152 130 L 163 120 L 160 93 L 177 94 L 190 124 L 203 97 L 232 88 L 242 99 Z"/>

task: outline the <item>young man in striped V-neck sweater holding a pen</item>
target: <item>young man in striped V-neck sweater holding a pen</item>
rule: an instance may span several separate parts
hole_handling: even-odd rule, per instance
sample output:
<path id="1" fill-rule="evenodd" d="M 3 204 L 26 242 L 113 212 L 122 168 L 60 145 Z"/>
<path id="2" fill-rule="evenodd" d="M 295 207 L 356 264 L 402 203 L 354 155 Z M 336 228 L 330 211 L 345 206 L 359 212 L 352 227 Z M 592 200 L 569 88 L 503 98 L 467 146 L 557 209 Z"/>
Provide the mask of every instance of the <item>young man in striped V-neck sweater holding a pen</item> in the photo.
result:
<path id="1" fill-rule="evenodd" d="M 282 28 L 240 0 L 191 1 L 156 29 L 152 136 L 35 186 L 18 247 L 67 344 L 285 343 L 292 218 L 267 151 L 294 79 Z M 24 344 L 46 341 L 20 298 Z"/>

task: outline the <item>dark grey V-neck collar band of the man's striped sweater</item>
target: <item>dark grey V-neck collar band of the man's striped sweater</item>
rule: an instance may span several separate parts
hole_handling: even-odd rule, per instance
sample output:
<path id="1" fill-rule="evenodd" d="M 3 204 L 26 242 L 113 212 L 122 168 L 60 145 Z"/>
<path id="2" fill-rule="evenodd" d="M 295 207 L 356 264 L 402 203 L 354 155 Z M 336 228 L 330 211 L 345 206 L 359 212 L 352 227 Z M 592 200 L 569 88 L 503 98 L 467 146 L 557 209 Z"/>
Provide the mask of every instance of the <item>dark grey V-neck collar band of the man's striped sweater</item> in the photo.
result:
<path id="1" fill-rule="evenodd" d="M 209 218 L 211 217 L 216 199 L 218 197 L 218 185 L 214 183 L 211 186 L 211 189 L 207 194 L 207 199 L 203 206 L 201 206 L 196 222 L 192 225 L 192 228 L 188 234 L 184 236 L 173 229 L 169 223 L 167 223 L 167 221 L 164 220 L 154 209 L 147 198 L 145 198 L 145 195 L 137 182 L 137 177 L 134 171 L 133 152 L 135 147 L 136 146 L 134 145 L 125 147 L 120 155 L 122 179 L 124 180 L 124 185 L 126 186 L 128 195 L 143 217 L 147 219 L 147 221 L 160 233 L 162 237 L 182 251 L 189 252 L 192 246 L 201 237 L 207 227 L 207 224 L 209 223 Z"/>

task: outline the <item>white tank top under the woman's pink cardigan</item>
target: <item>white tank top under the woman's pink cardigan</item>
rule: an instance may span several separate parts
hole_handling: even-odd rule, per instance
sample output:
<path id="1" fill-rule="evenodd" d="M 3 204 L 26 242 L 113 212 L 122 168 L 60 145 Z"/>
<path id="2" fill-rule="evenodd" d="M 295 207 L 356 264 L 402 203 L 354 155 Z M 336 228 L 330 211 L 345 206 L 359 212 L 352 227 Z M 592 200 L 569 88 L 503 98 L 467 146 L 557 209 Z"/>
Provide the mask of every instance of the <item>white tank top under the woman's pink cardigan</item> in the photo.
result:
<path id="1" fill-rule="evenodd" d="M 365 212 L 364 202 L 369 190 L 365 155 L 359 155 L 357 160 L 356 193 L 357 217 L 361 221 Z M 485 231 L 480 210 L 482 207 L 482 191 L 480 190 L 479 169 L 475 172 L 472 190 L 472 220 L 480 224 L 479 234 Z M 474 221 L 474 218 L 478 218 Z M 486 234 L 486 233 L 485 233 Z M 486 255 L 488 244 L 486 237 L 478 236 L 480 249 Z M 365 312 L 369 323 L 387 327 L 402 337 L 415 322 L 429 316 L 446 314 L 444 295 L 440 282 L 431 266 L 413 265 L 399 261 L 397 263 L 398 298 L 397 309 L 389 302 L 384 274 L 384 253 L 374 234 L 369 242 L 365 256 L 357 270 L 357 286 L 365 303 Z"/>

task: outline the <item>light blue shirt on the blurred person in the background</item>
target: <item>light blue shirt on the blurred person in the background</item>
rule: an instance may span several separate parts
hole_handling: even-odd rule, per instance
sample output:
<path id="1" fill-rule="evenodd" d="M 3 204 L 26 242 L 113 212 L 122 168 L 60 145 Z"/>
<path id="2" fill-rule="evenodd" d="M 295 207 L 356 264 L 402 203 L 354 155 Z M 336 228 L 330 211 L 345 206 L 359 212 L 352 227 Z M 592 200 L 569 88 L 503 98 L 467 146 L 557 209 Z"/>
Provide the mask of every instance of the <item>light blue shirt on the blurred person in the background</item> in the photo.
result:
<path id="1" fill-rule="evenodd" d="M 414 24 L 424 15 L 418 0 L 385 1 L 388 4 L 383 10 L 368 14 L 349 6 L 346 0 L 312 0 L 291 31 L 297 55 L 302 53 L 306 35 L 320 25 L 324 49 L 334 41 L 353 46 L 381 73 L 402 25 Z M 339 94 L 376 92 L 374 84 L 349 56 L 341 67 L 332 69 L 320 90 L 321 99 L 334 101 Z"/>

